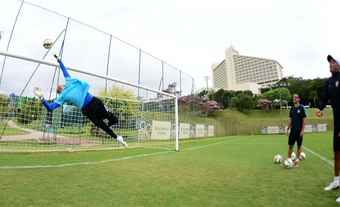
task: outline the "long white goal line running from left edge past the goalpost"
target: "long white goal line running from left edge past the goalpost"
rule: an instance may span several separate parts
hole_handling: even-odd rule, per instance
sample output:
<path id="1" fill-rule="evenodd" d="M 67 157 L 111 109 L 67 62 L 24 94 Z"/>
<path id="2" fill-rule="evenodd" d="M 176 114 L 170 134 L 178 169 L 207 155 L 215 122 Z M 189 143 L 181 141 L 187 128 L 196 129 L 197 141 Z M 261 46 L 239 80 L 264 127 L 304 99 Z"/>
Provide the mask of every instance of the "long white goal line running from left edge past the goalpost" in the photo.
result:
<path id="1" fill-rule="evenodd" d="M 250 137 L 250 136 L 247 136 L 247 137 Z M 247 138 L 247 137 L 243 137 L 243 138 Z M 202 147 L 212 146 L 212 145 L 215 145 L 215 144 L 221 144 L 221 143 L 225 143 L 225 142 L 235 141 L 235 140 L 238 140 L 238 139 L 242 139 L 242 138 L 236 138 L 236 139 L 232 139 L 232 140 L 228 140 L 228 141 L 217 142 L 217 143 L 213 143 L 213 144 L 183 149 L 183 150 L 179 150 L 179 151 L 198 149 L 198 148 L 202 148 Z M 119 159 L 111 159 L 111 160 L 102 160 L 102 161 L 97 161 L 97 162 L 71 163 L 71 164 L 61 164 L 61 165 L 2 166 L 2 167 L 0 167 L 0 169 L 59 168 L 59 167 L 75 166 L 75 165 L 90 165 L 90 164 L 98 164 L 98 163 L 106 163 L 106 162 L 114 162 L 114 161 L 132 159 L 132 158 L 136 158 L 136 157 L 145 157 L 145 156 L 151 156 L 151 155 L 165 154 L 165 153 L 170 153 L 170 152 L 176 152 L 176 151 L 156 152 L 156 153 L 151 153 L 151 154 L 136 155 L 136 156 L 131 156 L 131 157 L 123 157 L 123 158 L 119 158 Z"/>

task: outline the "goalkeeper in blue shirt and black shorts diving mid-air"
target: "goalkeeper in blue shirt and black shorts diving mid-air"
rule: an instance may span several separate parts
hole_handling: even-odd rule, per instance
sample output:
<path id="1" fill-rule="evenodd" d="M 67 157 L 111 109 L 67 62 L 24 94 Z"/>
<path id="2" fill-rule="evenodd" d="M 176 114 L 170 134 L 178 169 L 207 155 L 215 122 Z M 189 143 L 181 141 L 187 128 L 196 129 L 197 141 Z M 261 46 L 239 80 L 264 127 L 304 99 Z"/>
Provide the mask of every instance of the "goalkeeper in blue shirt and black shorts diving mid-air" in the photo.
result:
<path id="1" fill-rule="evenodd" d="M 123 140 L 121 136 L 117 136 L 112 130 L 111 126 L 118 123 L 118 119 L 112 114 L 110 109 L 106 107 L 97 97 L 94 97 L 88 90 L 90 85 L 84 80 L 77 78 L 71 78 L 66 70 L 63 62 L 60 60 L 59 56 L 53 55 L 63 71 L 66 84 L 57 84 L 57 99 L 49 104 L 42 95 L 42 90 L 39 87 L 34 87 L 34 94 L 39 97 L 42 104 L 47 108 L 48 111 L 61 106 L 64 102 L 77 105 L 82 113 L 89 118 L 97 127 L 104 130 L 112 138 L 117 139 L 124 147 L 128 147 L 128 144 Z M 108 124 L 106 125 L 103 119 L 108 119 Z"/>

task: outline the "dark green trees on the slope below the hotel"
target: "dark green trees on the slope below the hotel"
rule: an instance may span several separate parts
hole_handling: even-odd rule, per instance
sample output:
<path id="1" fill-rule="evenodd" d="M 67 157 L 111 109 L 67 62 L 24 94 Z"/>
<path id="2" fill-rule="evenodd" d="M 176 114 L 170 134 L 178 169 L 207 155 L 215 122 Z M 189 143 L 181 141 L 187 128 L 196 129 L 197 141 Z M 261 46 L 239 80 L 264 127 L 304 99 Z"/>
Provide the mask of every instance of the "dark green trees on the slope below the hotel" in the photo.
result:
<path id="1" fill-rule="evenodd" d="M 219 89 L 217 91 L 209 90 L 208 93 L 207 90 L 203 90 L 197 96 L 215 101 L 223 109 L 252 110 L 260 108 L 257 106 L 260 100 L 268 99 L 274 103 L 275 100 L 280 100 L 280 96 L 282 102 L 285 103 L 283 105 L 292 106 L 292 97 L 297 93 L 300 94 L 300 104 L 318 107 L 319 100 L 325 94 L 326 80 L 327 78 L 304 79 L 303 77 L 287 76 L 271 87 L 261 88 L 261 95 L 253 94 L 251 91 Z"/>

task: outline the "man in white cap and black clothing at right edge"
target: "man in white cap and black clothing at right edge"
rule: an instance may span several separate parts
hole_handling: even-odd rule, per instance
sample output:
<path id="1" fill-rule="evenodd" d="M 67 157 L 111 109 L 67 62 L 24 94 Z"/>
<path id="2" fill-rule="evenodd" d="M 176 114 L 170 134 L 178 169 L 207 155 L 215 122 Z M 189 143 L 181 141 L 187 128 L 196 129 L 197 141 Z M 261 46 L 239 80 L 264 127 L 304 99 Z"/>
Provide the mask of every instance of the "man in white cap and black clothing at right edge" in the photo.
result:
<path id="1" fill-rule="evenodd" d="M 326 80 L 325 96 L 322 98 L 316 115 L 322 116 L 322 110 L 330 101 L 333 108 L 334 133 L 333 133 L 333 151 L 334 151 L 334 181 L 324 190 L 335 190 L 339 188 L 339 171 L 340 171 L 340 61 L 338 58 L 327 56 L 330 63 L 329 71 L 332 76 Z M 337 199 L 340 202 L 340 197 Z"/>

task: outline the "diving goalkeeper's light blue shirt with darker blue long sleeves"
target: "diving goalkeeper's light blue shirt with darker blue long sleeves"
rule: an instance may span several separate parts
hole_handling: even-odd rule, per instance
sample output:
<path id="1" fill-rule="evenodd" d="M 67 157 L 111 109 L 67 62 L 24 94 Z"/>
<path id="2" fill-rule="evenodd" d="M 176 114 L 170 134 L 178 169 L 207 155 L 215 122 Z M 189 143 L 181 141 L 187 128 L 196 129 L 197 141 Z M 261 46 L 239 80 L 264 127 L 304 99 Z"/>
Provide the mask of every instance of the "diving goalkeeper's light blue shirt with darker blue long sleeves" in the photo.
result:
<path id="1" fill-rule="evenodd" d="M 42 104 L 48 111 L 52 111 L 64 102 L 75 104 L 81 109 L 84 108 L 93 98 L 93 95 L 88 93 L 89 84 L 80 79 L 72 79 L 63 62 L 59 60 L 58 63 L 66 80 L 65 87 L 52 104 L 49 104 L 46 100 L 43 100 Z"/>

